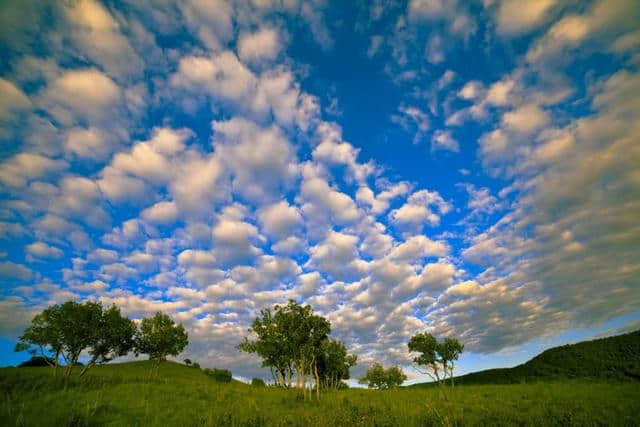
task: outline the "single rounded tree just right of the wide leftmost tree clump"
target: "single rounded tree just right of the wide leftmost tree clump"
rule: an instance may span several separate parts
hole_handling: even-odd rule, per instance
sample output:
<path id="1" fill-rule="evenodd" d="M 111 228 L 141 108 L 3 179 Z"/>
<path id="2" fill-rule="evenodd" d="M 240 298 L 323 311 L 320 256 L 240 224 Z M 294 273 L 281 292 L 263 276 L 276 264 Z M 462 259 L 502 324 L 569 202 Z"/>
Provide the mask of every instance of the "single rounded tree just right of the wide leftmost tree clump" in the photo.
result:
<path id="1" fill-rule="evenodd" d="M 182 324 L 176 325 L 167 314 L 157 312 L 140 322 L 135 339 L 135 351 L 148 354 L 149 360 L 163 362 L 167 356 L 177 356 L 189 344 L 189 336 Z"/>

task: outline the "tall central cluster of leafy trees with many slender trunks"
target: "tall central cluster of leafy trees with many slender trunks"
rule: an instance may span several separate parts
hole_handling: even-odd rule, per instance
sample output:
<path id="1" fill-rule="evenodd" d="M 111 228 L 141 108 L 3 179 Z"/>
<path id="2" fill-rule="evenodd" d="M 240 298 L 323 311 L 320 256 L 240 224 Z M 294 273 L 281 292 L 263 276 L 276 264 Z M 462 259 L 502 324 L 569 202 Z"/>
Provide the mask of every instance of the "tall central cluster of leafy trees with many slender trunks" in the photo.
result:
<path id="1" fill-rule="evenodd" d="M 329 338 L 331 323 L 314 314 L 311 306 L 293 300 L 273 310 L 263 309 L 249 332 L 256 338 L 245 338 L 238 348 L 260 356 L 276 384 L 290 388 L 295 378 L 305 398 L 307 389 L 311 398 L 314 385 L 316 399 L 320 388 L 339 388 L 356 364 L 355 355 L 347 354 L 341 342 Z"/>

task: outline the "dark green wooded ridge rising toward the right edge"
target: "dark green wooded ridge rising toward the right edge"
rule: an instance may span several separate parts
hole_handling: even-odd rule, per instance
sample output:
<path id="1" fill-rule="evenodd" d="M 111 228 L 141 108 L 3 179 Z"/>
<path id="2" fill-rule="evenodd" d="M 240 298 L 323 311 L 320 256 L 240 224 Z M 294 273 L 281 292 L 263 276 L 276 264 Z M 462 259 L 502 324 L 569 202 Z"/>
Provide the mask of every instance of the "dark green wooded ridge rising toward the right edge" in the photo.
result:
<path id="1" fill-rule="evenodd" d="M 565 379 L 640 381 L 640 330 L 550 348 L 522 365 L 472 372 L 455 377 L 454 382 L 513 384 Z"/>

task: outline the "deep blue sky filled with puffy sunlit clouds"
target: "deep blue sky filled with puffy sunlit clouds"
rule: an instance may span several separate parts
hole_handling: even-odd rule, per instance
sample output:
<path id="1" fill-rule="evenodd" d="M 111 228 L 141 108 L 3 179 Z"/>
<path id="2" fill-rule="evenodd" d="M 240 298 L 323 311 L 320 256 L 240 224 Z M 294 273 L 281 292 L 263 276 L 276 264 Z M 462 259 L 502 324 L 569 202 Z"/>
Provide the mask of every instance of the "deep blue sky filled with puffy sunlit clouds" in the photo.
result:
<path id="1" fill-rule="evenodd" d="M 411 381 L 640 327 L 640 4 L 8 0 L 0 364 L 70 299 L 169 313 L 180 358 L 293 299 Z"/>

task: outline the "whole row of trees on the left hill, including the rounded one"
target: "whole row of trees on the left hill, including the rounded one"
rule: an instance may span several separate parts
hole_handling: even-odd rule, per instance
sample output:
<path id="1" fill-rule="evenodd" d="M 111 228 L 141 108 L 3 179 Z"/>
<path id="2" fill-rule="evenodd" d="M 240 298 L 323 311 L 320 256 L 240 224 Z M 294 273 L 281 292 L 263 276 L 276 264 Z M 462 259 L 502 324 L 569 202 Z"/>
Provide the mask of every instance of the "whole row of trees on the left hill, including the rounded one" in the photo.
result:
<path id="1" fill-rule="evenodd" d="M 16 344 L 15 351 L 39 355 L 54 369 L 64 360 L 64 376 L 69 377 L 83 352 L 89 361 L 80 372 L 84 375 L 94 365 L 134 352 L 148 354 L 158 362 L 177 356 L 189 340 L 182 324 L 176 325 L 166 314 L 144 318 L 140 326 L 123 316 L 115 305 L 100 302 L 67 301 L 46 308 L 36 315 Z"/>

